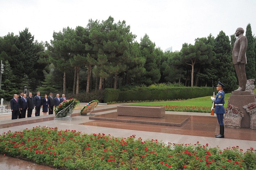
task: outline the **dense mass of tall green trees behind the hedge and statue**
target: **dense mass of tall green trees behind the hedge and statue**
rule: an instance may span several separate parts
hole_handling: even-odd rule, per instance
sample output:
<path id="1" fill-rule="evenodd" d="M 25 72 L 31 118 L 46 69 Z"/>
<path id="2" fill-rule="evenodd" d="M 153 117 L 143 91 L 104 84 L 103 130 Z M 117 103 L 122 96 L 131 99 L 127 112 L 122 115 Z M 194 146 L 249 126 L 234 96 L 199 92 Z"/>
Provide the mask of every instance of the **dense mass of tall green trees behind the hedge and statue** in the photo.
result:
<path id="1" fill-rule="evenodd" d="M 19 35 L 8 33 L 0 37 L 4 73 L 15 75 L 11 76 L 15 91 L 27 86 L 31 92 L 46 94 L 79 95 L 105 88 L 166 82 L 211 87 L 212 80 L 215 84 L 218 81 L 226 84 L 227 91 L 236 88 L 231 61 L 234 35 L 229 38 L 220 31 L 216 38 L 210 34 L 196 38 L 194 44 L 184 43 L 180 52 L 163 53 L 147 34 L 140 38 L 140 43 L 135 41 L 136 35 L 130 28 L 125 20 L 114 22 L 109 16 L 101 22 L 90 19 L 86 27 L 54 31 L 50 42 L 37 42 L 28 28 Z M 246 74 L 248 79 L 255 79 L 256 38 L 250 24 L 246 27 L 246 36 Z M 1 95 L 4 98 L 10 96 L 7 79 L 3 75 Z"/>

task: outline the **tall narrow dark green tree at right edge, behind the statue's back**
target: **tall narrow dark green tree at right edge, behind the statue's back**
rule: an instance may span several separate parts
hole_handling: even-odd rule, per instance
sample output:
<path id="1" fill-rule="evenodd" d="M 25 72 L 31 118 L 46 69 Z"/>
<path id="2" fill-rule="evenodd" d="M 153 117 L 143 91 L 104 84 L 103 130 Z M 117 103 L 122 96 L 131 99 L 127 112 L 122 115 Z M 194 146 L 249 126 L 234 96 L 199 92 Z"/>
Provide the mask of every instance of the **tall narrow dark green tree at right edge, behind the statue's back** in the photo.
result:
<path id="1" fill-rule="evenodd" d="M 246 49 L 247 64 L 245 64 L 246 78 L 247 79 L 255 79 L 256 78 L 255 52 L 254 52 L 252 27 L 251 27 L 250 23 L 246 27 L 245 36 L 247 38 L 247 49 Z"/>

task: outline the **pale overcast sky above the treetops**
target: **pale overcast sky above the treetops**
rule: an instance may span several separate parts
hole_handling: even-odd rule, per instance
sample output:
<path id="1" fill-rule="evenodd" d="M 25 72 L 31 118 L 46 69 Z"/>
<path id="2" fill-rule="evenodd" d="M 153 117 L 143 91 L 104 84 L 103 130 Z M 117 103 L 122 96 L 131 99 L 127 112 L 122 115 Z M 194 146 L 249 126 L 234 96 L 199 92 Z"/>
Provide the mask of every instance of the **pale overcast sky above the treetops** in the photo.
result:
<path id="1" fill-rule="evenodd" d="M 221 30 L 232 35 L 248 23 L 256 33 L 256 0 L 0 0 L 0 37 L 27 27 L 35 40 L 50 42 L 53 31 L 109 16 L 125 20 L 136 41 L 147 34 L 162 50 L 180 51 Z"/>

